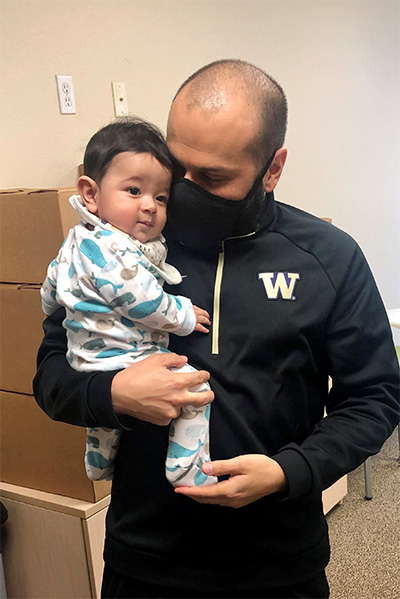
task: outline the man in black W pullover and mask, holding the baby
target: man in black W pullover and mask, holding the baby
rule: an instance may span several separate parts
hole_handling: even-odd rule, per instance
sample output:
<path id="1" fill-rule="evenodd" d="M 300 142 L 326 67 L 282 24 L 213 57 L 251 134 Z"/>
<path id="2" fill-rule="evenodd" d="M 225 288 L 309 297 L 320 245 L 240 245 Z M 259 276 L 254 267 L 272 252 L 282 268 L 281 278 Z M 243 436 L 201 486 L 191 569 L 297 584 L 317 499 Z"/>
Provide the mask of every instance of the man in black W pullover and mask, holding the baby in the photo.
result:
<path id="1" fill-rule="evenodd" d="M 321 491 L 398 423 L 390 327 L 361 251 L 274 200 L 286 112 L 281 87 L 237 60 L 200 69 L 172 103 L 167 143 L 183 178 L 165 234 L 186 276 L 170 290 L 212 315 L 210 335 L 171 336 L 175 355 L 83 375 L 64 358 L 63 314 L 45 321 L 38 403 L 55 419 L 125 428 L 103 597 L 328 597 Z M 181 355 L 203 370 L 170 372 Z M 213 399 L 189 392 L 207 372 L 207 473 L 219 482 L 174 491 L 166 425 Z"/>

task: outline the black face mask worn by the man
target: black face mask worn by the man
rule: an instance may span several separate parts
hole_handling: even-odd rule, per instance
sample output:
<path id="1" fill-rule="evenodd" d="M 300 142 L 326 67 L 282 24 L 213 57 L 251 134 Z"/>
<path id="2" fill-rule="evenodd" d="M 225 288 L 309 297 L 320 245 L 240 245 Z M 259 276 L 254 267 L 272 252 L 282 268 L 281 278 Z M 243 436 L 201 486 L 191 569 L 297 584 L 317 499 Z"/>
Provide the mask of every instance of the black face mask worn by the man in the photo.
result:
<path id="1" fill-rule="evenodd" d="M 176 181 L 168 202 L 167 236 L 202 251 L 218 249 L 224 239 L 256 230 L 265 198 L 262 180 L 274 157 L 275 152 L 243 200 L 214 195 L 188 179 Z"/>

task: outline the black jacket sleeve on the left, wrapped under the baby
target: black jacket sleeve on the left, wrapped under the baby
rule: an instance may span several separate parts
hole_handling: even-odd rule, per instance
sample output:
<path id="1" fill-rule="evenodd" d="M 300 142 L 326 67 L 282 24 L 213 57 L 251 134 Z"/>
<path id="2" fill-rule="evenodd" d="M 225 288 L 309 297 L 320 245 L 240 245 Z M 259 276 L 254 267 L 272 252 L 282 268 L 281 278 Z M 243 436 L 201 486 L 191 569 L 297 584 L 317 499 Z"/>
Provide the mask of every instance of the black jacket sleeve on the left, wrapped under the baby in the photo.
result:
<path id="1" fill-rule="evenodd" d="M 111 402 L 111 382 L 118 371 L 77 372 L 66 360 L 67 338 L 59 308 L 43 322 L 44 338 L 37 355 L 33 392 L 53 420 L 78 426 L 125 428 Z M 127 425 L 129 417 L 126 417 Z M 125 422 L 125 417 L 124 417 Z"/>

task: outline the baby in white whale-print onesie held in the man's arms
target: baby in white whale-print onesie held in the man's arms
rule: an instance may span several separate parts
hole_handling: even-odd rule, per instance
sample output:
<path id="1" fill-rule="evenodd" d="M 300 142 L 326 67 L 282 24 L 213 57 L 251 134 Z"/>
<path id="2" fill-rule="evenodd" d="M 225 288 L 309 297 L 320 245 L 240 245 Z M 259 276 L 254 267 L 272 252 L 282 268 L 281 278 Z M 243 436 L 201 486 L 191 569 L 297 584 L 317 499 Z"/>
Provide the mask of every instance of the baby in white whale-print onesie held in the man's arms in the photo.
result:
<path id="1" fill-rule="evenodd" d="M 42 286 L 42 308 L 64 306 L 67 360 L 81 371 L 118 370 L 168 352 L 169 333 L 208 333 L 209 315 L 162 286 L 182 277 L 166 262 L 172 159 L 161 132 L 138 118 L 117 120 L 89 141 L 72 228 Z M 176 372 L 193 371 L 185 365 Z M 208 389 L 199 385 L 192 391 Z M 172 485 L 217 482 L 201 470 L 210 460 L 210 406 L 182 410 L 169 429 L 166 476 Z M 90 479 L 111 479 L 121 430 L 87 430 Z"/>

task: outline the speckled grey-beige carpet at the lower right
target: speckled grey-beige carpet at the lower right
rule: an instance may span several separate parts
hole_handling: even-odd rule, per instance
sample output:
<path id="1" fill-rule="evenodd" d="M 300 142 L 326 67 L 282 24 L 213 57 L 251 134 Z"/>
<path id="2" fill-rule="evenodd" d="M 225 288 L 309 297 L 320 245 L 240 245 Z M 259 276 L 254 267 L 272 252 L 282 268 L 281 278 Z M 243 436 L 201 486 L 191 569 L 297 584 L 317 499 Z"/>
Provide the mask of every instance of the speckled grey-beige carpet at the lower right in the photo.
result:
<path id="1" fill-rule="evenodd" d="M 327 515 L 331 599 L 400 599 L 400 463 L 397 429 L 372 458 L 373 499 L 364 468 L 348 475 L 348 494 Z"/>

